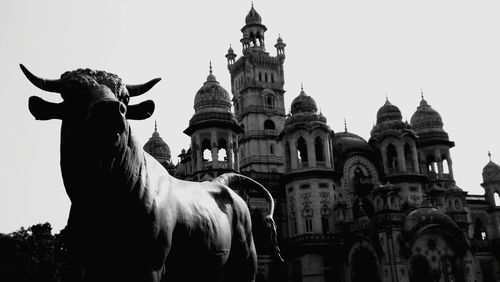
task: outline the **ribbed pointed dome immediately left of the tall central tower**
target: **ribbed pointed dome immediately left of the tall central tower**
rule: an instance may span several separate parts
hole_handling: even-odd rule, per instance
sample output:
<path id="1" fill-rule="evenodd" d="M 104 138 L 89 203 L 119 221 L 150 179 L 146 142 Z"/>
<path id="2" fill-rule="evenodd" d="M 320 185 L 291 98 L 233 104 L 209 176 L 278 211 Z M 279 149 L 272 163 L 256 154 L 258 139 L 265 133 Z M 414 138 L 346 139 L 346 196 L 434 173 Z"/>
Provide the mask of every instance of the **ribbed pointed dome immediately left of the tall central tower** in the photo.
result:
<path id="1" fill-rule="evenodd" d="M 231 111 L 231 98 L 229 93 L 222 87 L 212 74 L 212 66 L 210 66 L 210 74 L 207 76 L 207 81 L 198 90 L 194 97 L 194 109 L 196 112 L 205 108 L 219 108 L 224 111 Z"/>

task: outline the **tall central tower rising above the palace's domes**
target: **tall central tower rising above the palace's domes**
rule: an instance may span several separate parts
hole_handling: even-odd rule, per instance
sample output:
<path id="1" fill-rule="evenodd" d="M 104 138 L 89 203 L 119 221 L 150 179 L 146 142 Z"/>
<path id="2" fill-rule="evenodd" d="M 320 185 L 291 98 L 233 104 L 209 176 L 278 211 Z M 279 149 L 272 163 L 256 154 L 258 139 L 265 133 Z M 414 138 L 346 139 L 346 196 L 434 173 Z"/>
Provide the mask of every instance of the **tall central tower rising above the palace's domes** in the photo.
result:
<path id="1" fill-rule="evenodd" d="M 283 173 L 283 150 L 276 140 L 285 123 L 286 46 L 278 37 L 277 55 L 270 56 L 265 48 L 266 30 L 252 5 L 241 29 L 243 55 L 236 60 L 231 47 L 226 55 L 234 111 L 244 129 L 239 138 L 240 170 L 264 185 Z"/>

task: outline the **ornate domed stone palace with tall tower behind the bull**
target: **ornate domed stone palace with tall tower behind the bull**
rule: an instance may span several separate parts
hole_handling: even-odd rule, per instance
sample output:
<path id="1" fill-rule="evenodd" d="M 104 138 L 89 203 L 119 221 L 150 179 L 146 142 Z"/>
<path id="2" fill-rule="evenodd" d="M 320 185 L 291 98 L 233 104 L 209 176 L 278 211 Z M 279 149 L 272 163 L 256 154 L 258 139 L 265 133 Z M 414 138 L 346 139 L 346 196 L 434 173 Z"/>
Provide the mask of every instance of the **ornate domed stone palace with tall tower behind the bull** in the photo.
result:
<path id="1" fill-rule="evenodd" d="M 491 156 L 484 195 L 459 188 L 455 144 L 423 95 L 410 123 L 386 99 L 369 140 L 334 132 L 303 89 L 287 114 L 286 44 L 278 37 L 271 55 L 262 22 L 252 5 L 242 54 L 226 54 L 232 95 L 210 67 L 177 166 L 156 125 L 144 146 L 177 178 L 239 172 L 270 190 L 285 262 L 270 256 L 259 233 L 267 205 L 250 195 L 257 281 L 500 281 L 500 166 Z"/>

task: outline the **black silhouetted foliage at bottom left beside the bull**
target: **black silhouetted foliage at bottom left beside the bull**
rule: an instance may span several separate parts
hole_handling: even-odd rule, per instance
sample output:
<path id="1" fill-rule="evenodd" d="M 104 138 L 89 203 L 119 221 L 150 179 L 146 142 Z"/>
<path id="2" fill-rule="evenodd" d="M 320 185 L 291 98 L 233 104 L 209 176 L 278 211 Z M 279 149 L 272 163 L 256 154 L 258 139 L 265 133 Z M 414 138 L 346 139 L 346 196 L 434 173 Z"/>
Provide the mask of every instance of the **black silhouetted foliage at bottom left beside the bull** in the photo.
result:
<path id="1" fill-rule="evenodd" d="M 65 233 L 52 235 L 47 222 L 0 234 L 0 281 L 81 280 L 81 269 L 69 264 Z"/>

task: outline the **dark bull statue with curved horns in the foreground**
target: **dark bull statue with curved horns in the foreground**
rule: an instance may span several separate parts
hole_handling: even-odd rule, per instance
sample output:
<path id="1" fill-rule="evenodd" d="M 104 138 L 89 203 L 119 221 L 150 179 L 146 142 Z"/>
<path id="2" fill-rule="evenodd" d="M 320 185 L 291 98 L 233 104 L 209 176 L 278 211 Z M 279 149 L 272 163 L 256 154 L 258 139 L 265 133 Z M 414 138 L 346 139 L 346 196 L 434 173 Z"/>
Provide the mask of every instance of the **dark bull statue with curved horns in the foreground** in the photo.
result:
<path id="1" fill-rule="evenodd" d="M 235 182 L 269 202 L 266 232 L 281 259 L 274 202 L 264 187 L 238 174 L 212 182 L 178 180 L 135 140 L 128 120 L 150 117 L 154 102 L 132 105 L 129 99 L 159 78 L 125 85 L 114 74 L 78 69 L 49 80 L 20 67 L 36 87 L 63 99 L 52 103 L 32 96 L 28 106 L 37 120 L 62 120 L 70 250 L 85 281 L 254 281 L 250 212 L 228 187 Z"/>

